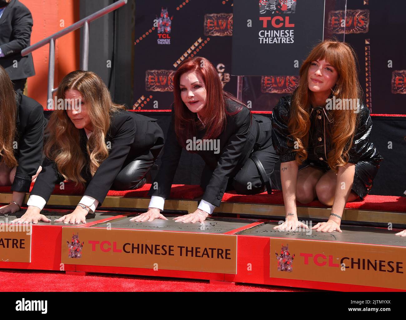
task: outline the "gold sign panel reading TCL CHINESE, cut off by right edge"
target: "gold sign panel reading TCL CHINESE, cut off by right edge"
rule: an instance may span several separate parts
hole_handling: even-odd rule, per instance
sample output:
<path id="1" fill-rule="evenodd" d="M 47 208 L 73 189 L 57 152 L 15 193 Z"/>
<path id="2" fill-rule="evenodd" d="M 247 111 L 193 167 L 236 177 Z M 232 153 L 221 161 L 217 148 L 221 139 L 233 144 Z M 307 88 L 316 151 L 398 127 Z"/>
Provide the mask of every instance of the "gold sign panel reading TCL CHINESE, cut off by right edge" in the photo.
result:
<path id="1" fill-rule="evenodd" d="M 270 239 L 270 277 L 406 290 L 406 248 Z"/>

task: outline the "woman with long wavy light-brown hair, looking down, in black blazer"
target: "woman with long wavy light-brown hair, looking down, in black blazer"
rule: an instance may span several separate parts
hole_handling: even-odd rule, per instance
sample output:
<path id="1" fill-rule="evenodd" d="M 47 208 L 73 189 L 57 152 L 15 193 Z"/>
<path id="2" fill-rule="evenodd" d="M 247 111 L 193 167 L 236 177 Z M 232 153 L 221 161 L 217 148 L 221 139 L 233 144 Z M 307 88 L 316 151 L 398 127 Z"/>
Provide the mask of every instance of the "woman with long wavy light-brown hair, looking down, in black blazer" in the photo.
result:
<path id="1" fill-rule="evenodd" d="M 64 108 L 52 112 L 45 143 L 43 169 L 28 199 L 28 209 L 12 222 L 50 222 L 42 208 L 55 184 L 65 179 L 86 190 L 71 213 L 56 222 L 85 223 L 108 190 L 142 187 L 164 145 L 155 119 L 130 112 L 112 102 L 103 80 L 91 71 L 73 71 L 58 87 Z"/>

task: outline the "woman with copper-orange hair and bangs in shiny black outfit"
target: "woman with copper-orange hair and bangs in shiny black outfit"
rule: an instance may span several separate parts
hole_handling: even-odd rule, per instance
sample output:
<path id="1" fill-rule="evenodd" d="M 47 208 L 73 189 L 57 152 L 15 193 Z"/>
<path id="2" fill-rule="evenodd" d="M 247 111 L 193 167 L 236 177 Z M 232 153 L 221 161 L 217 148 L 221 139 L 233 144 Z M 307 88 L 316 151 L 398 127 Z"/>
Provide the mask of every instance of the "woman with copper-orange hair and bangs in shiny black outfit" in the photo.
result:
<path id="1" fill-rule="evenodd" d="M 338 41 L 319 43 L 300 67 L 298 88 L 272 112 L 286 214 L 274 229 L 307 228 L 298 221 L 296 200 L 317 197 L 332 210 L 327 222 L 312 229 L 341 232 L 347 201 L 364 199 L 371 190 L 383 158 L 369 142 L 372 121 L 361 99 L 354 50 Z"/>

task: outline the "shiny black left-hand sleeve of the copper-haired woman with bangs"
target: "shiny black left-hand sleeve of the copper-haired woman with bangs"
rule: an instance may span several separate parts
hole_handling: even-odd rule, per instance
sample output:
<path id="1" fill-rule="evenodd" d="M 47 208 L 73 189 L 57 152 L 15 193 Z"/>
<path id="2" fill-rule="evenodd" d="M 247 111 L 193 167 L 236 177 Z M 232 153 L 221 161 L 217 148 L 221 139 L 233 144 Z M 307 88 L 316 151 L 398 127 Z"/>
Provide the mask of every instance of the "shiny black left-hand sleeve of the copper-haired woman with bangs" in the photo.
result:
<path id="1" fill-rule="evenodd" d="M 290 103 L 285 97 L 281 97 L 272 110 L 272 144 L 281 162 L 293 161 L 296 158 L 296 152 L 293 149 L 294 141 L 292 136 L 289 136 L 287 128 L 289 117 Z M 292 147 L 287 145 L 288 141 Z"/>

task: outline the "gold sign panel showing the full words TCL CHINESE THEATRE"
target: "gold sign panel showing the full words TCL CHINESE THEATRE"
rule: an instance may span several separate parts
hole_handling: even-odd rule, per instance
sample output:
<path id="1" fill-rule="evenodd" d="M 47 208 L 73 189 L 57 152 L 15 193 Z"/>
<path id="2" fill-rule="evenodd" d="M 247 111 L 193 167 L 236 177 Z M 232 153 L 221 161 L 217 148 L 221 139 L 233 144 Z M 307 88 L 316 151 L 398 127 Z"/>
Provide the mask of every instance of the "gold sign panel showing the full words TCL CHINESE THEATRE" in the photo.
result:
<path id="1" fill-rule="evenodd" d="M 237 236 L 63 227 L 61 262 L 236 274 Z"/>

